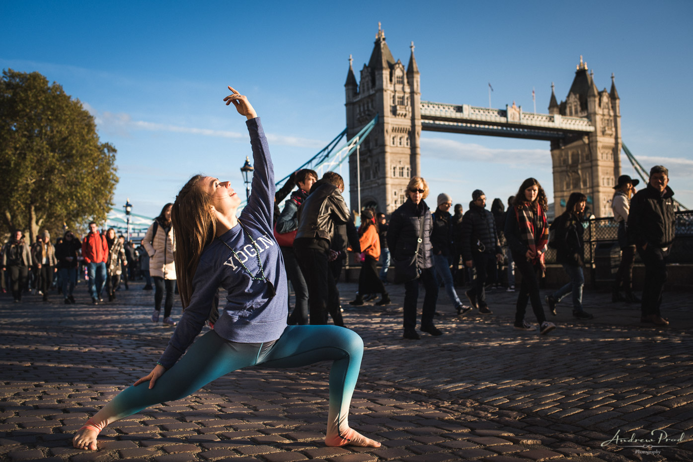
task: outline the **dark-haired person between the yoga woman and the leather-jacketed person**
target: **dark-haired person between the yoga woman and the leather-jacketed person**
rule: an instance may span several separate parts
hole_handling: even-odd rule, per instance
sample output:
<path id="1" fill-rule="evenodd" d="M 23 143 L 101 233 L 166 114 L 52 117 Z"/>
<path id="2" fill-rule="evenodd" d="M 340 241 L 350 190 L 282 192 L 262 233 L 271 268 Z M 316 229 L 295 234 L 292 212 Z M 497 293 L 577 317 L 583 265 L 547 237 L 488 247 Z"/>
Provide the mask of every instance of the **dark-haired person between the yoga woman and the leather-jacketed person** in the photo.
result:
<path id="1" fill-rule="evenodd" d="M 291 193 L 289 199 L 284 203 L 284 209 L 277 219 L 275 231 L 282 236 L 275 237 L 283 238 L 281 242 L 279 239 L 277 242 L 279 242 L 281 256 L 284 258 L 286 274 L 294 288 L 294 309 L 289 315 L 288 323 L 291 325 L 299 324 L 303 326 L 308 324 L 309 321 L 308 285 L 306 284 L 306 278 L 304 278 L 303 273 L 301 273 L 301 267 L 294 254 L 294 238 L 299 228 L 299 207 L 303 204 L 306 197 L 308 197 L 310 188 L 312 188 L 313 184 L 317 181 L 317 172 L 309 168 L 303 168 L 296 172 L 295 181 L 298 188 Z"/>

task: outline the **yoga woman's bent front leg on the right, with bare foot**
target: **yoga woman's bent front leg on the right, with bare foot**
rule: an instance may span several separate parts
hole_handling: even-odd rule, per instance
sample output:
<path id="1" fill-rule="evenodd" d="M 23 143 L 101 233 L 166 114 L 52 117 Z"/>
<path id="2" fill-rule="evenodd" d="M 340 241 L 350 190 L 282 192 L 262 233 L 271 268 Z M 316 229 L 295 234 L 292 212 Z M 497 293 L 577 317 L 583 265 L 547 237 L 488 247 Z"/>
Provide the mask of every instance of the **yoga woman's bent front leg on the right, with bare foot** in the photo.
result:
<path id="1" fill-rule="evenodd" d="M 258 364 L 286 368 L 333 361 L 326 445 L 379 447 L 380 443 L 349 427 L 349 406 L 362 356 L 363 341 L 353 330 L 338 326 L 288 326 Z"/>

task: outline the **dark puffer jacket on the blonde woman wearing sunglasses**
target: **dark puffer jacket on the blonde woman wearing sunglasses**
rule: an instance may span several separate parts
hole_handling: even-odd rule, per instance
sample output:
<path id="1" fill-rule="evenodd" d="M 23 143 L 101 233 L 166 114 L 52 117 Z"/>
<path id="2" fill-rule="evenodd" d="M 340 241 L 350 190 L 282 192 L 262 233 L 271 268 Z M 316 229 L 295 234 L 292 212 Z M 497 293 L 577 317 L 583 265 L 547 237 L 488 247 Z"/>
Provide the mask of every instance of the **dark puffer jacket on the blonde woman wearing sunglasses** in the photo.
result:
<path id="1" fill-rule="evenodd" d="M 430 208 L 423 200 L 417 206 L 412 199 L 399 206 L 392 213 L 387 229 L 387 247 L 393 260 L 409 260 L 416 251 L 416 240 L 419 239 L 419 221 L 423 215 L 423 236 L 419 246 L 417 266 L 420 269 L 433 266 L 431 256 L 431 230 L 433 227 Z"/>

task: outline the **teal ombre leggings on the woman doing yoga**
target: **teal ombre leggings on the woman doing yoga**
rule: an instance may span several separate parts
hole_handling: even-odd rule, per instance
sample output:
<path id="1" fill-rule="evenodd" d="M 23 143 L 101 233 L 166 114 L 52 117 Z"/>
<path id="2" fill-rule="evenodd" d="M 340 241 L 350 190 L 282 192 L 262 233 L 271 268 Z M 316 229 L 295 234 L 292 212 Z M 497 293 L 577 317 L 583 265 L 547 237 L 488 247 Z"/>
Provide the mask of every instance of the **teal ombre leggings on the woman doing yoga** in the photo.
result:
<path id="1" fill-rule="evenodd" d="M 327 437 L 335 438 L 349 428 L 349 404 L 362 356 L 361 337 L 338 326 L 287 326 L 270 344 L 240 344 L 222 339 L 211 330 L 159 377 L 154 388 L 149 389 L 149 382 L 143 382 L 123 390 L 89 423 L 103 429 L 146 407 L 185 398 L 222 375 L 247 366 L 285 368 L 331 360 Z"/>

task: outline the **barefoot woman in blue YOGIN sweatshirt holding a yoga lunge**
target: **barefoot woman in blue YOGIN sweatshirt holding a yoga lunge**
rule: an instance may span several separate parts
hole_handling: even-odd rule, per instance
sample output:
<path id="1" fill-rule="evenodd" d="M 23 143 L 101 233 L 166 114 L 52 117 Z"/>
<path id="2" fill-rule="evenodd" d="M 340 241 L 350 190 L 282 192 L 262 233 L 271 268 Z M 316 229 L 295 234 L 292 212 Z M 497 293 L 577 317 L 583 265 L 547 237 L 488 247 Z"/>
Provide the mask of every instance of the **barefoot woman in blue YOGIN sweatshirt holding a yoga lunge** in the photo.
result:
<path id="1" fill-rule="evenodd" d="M 229 89 L 234 94 L 225 100 L 248 119 L 255 167 L 248 204 L 236 217 L 240 197 L 229 181 L 215 177 L 195 175 L 180 190 L 172 220 L 185 308 L 181 322 L 152 371 L 76 432 L 73 446 L 78 449 L 96 450 L 98 434 L 106 425 L 159 402 L 182 399 L 231 371 L 325 360 L 333 362 L 326 445 L 380 446 L 349 427 L 349 405 L 363 355 L 360 337 L 337 326 L 286 325 L 288 289 L 279 246 L 272 238 L 274 168 L 267 139 L 247 98 Z M 193 344 L 220 285 L 228 292 L 226 306 L 214 329 Z"/>

